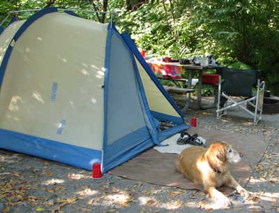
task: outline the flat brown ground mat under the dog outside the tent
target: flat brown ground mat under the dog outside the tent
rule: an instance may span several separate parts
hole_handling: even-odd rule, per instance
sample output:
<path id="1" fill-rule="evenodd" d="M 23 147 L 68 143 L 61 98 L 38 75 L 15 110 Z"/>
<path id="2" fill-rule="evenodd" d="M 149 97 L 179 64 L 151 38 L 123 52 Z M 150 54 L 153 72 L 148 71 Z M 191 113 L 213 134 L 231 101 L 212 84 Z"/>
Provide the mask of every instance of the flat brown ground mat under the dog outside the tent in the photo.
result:
<path id="1" fill-rule="evenodd" d="M 250 178 L 250 172 L 257 166 L 268 145 L 266 137 L 259 133 L 241 134 L 229 131 L 218 131 L 201 128 L 191 128 L 188 133 L 197 133 L 206 139 L 206 145 L 211 142 L 223 140 L 232 145 L 233 149 L 243 152 L 243 160 L 239 163 L 230 164 L 230 171 L 234 179 L 245 186 Z M 160 153 L 154 149 L 136 156 L 130 161 L 123 163 L 110 170 L 110 174 L 134 179 L 141 182 L 149 182 L 164 186 L 177 186 L 182 189 L 199 189 L 198 186 L 189 179 L 183 177 L 174 166 L 178 154 Z M 232 193 L 232 189 L 223 187 L 220 189 L 225 194 Z"/>

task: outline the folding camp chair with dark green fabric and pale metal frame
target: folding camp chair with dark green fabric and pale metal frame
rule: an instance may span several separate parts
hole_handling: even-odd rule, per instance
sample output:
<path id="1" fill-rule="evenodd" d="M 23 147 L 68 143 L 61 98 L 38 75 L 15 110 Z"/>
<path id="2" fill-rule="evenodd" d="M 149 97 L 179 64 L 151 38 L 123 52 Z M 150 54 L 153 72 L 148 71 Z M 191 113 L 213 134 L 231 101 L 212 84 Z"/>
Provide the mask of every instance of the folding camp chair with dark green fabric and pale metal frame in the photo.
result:
<path id="1" fill-rule="evenodd" d="M 260 71 L 240 70 L 226 67 L 217 68 L 219 74 L 217 118 L 227 114 L 227 109 L 239 107 L 254 118 L 254 124 L 262 119 L 262 106 L 264 102 L 264 81 L 260 81 Z M 257 94 L 252 94 L 256 86 Z M 240 97 L 236 101 L 234 97 Z M 248 103 L 255 108 L 252 112 L 243 106 Z"/>

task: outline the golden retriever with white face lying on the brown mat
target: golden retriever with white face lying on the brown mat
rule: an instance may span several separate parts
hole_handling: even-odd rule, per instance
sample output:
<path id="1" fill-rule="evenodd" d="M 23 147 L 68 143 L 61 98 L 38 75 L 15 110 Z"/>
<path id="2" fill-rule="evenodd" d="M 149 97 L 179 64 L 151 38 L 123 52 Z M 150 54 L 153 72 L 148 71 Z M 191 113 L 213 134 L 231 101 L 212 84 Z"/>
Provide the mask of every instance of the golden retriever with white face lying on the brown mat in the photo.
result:
<path id="1" fill-rule="evenodd" d="M 229 206 L 232 203 L 216 188 L 229 186 L 236 189 L 241 196 L 248 197 L 249 193 L 237 183 L 229 173 L 228 162 L 239 162 L 243 157 L 227 142 L 213 142 L 209 148 L 189 147 L 179 154 L 176 168 L 196 184 L 204 187 L 211 198 L 215 198 L 221 205 Z"/>

